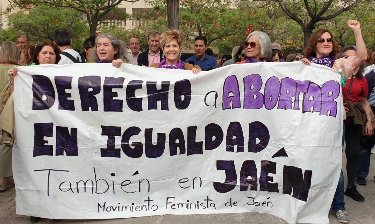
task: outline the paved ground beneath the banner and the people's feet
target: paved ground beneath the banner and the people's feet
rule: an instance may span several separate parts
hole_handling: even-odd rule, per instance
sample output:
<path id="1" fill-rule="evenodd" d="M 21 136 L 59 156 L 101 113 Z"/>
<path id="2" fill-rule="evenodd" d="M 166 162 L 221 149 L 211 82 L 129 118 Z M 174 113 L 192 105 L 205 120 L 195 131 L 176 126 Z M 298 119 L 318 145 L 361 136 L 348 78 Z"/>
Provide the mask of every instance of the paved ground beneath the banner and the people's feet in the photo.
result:
<path id="1" fill-rule="evenodd" d="M 346 161 L 344 156 L 343 167 Z M 345 168 L 344 178 L 346 182 Z M 365 197 L 365 202 L 356 202 L 345 197 L 346 210 L 351 224 L 375 224 L 375 155 L 371 155 L 370 174 L 366 186 L 357 185 L 358 191 Z M 346 186 L 346 183 L 345 183 Z M 0 192 L 0 224 L 26 224 L 29 223 L 27 216 L 16 214 L 15 189 Z M 329 213 L 330 223 L 338 224 L 333 212 Z M 54 223 L 52 220 L 42 220 L 39 223 Z M 246 212 L 237 214 L 207 214 L 207 215 L 160 215 L 139 218 L 124 218 L 114 220 L 63 220 L 58 224 L 287 224 L 284 220 L 273 215 L 257 212 Z"/>

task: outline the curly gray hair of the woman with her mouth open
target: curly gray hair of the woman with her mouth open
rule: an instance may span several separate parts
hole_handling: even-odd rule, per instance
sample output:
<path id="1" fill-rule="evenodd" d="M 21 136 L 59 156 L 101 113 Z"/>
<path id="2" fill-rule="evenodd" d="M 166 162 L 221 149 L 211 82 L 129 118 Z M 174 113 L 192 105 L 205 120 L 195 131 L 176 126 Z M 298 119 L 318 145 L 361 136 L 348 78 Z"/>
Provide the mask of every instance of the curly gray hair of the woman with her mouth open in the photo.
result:
<path id="1" fill-rule="evenodd" d="M 113 36 L 112 34 L 109 34 L 109 33 L 102 33 L 102 34 L 99 34 L 96 37 L 95 46 L 93 47 L 90 58 L 89 58 L 90 62 L 96 62 L 96 60 L 99 58 L 98 54 L 96 54 L 96 46 L 98 45 L 98 40 L 101 39 L 101 38 L 110 39 L 113 48 L 115 50 L 117 50 L 117 53 L 115 54 L 113 60 L 121 59 L 121 60 L 124 61 L 124 63 L 129 62 L 129 60 L 127 60 L 126 51 L 125 51 L 125 49 L 127 48 L 126 44 L 123 41 L 121 41 L 120 39 L 118 39 L 117 37 L 115 37 L 115 36 Z"/>

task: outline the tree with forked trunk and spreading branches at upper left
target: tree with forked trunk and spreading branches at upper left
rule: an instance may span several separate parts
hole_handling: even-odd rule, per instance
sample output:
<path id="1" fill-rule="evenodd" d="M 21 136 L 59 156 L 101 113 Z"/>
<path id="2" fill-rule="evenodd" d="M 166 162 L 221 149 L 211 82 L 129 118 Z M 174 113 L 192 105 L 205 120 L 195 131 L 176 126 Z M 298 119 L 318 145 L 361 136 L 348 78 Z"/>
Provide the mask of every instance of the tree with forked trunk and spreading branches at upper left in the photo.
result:
<path id="1" fill-rule="evenodd" d="M 38 7 L 43 4 L 73 9 L 85 16 L 90 28 L 90 36 L 95 35 L 98 25 L 104 23 L 104 16 L 111 10 L 115 11 L 118 4 L 123 1 L 134 2 L 138 0 L 9 0 L 11 5 L 20 7 L 21 9 Z M 121 13 L 121 16 L 122 20 L 129 17 L 125 13 Z"/>

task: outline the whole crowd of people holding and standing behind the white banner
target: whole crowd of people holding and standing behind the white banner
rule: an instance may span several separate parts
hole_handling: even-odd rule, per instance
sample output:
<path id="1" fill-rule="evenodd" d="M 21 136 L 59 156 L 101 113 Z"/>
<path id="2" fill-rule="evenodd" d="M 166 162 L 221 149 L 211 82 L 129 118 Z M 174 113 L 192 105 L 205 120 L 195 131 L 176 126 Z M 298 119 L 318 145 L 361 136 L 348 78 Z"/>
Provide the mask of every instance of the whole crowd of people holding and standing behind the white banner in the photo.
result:
<path id="1" fill-rule="evenodd" d="M 5 41 L 0 50 L 0 191 L 14 185 L 11 157 L 16 136 L 13 132 L 12 93 L 17 66 L 91 62 L 112 63 L 113 66 L 120 67 L 123 63 L 129 63 L 161 69 L 191 70 L 193 74 L 197 74 L 230 64 L 301 61 L 306 66 L 316 63 L 330 67 L 342 75 L 345 108 L 342 145 L 346 142 L 348 182 L 345 190 L 341 171 L 332 210 L 339 222 L 348 223 L 344 195 L 356 201 L 365 200 L 357 191 L 356 184 L 366 185 L 371 149 L 375 145 L 375 65 L 374 52 L 366 49 L 359 22 L 348 20 L 347 24 L 354 33 L 355 46 L 340 49 L 330 30 L 319 29 L 312 34 L 303 54 L 296 52 L 287 55 L 285 61 L 281 46 L 272 43 L 270 37 L 261 31 L 250 33 L 243 44 L 233 48 L 232 55 L 223 55 L 219 59 L 212 56 L 207 39 L 197 36 L 194 39 L 195 54 L 185 61 L 181 60 L 183 35 L 177 30 L 166 30 L 161 34 L 150 31 L 147 36 L 148 48 L 143 52 L 135 37 L 126 46 L 111 34 L 99 34 L 85 40 L 84 54 L 81 54 L 71 48 L 72 40 L 65 30 L 55 31 L 52 42 L 43 41 L 36 46 L 31 44 L 26 35 L 18 36 L 17 44 Z M 127 49 L 130 50 L 129 55 Z M 31 217 L 30 223 L 37 223 L 39 220 L 41 218 Z"/>

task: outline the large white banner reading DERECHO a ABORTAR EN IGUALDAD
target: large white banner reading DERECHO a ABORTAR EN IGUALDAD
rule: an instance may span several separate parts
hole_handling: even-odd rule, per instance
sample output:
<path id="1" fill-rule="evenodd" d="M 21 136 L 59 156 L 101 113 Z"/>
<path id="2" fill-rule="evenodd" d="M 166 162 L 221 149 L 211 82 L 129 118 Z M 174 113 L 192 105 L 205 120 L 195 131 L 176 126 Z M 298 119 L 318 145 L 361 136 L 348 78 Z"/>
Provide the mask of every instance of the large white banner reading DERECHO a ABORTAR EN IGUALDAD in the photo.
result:
<path id="1" fill-rule="evenodd" d="M 102 219 L 262 212 L 329 223 L 342 157 L 341 77 L 253 63 L 191 71 L 20 67 L 17 214 Z"/>

